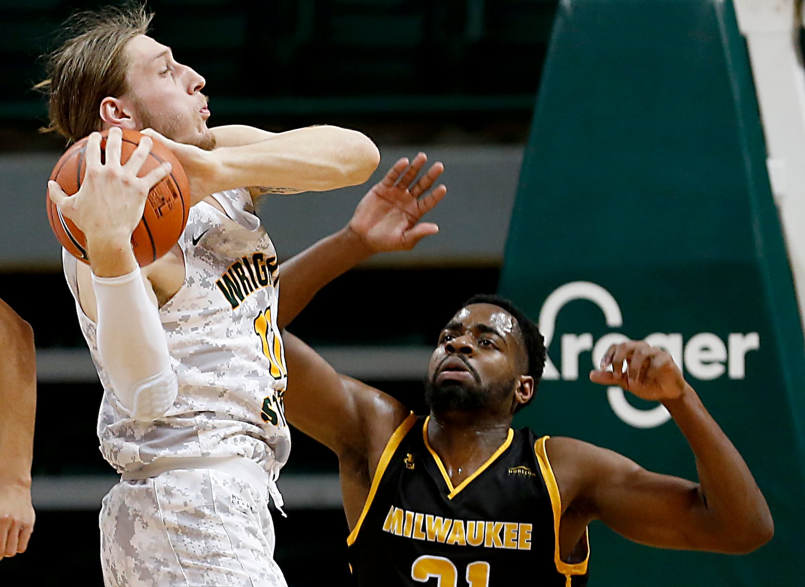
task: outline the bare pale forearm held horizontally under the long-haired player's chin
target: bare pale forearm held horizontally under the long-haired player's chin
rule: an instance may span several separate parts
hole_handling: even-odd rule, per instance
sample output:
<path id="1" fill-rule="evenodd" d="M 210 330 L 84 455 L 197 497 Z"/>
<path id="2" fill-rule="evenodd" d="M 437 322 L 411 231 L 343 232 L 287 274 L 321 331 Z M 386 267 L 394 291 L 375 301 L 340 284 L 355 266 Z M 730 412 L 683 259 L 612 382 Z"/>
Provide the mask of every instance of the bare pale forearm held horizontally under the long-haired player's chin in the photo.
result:
<path id="1" fill-rule="evenodd" d="M 356 130 L 309 126 L 210 153 L 204 191 L 259 186 L 266 192 L 323 192 L 362 184 L 378 166 L 374 143 Z"/>

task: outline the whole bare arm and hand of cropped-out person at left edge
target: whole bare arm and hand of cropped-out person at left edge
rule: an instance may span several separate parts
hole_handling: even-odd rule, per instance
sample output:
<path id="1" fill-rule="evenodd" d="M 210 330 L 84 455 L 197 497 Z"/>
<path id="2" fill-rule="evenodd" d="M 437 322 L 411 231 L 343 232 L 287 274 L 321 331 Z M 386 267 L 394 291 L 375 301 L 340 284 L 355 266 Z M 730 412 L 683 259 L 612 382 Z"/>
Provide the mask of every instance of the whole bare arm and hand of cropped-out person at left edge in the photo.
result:
<path id="1" fill-rule="evenodd" d="M 0 300 L 0 560 L 25 552 L 34 529 L 31 458 L 36 358 L 31 325 Z"/>

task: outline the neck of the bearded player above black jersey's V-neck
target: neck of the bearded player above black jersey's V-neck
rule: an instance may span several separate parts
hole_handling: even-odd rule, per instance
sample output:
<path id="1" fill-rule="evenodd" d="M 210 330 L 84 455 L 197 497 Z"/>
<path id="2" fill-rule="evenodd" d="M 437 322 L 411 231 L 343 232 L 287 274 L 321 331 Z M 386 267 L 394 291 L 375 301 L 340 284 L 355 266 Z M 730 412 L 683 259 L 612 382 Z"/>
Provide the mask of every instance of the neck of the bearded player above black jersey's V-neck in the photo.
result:
<path id="1" fill-rule="evenodd" d="M 431 414 L 427 425 L 427 441 L 454 481 L 472 475 L 509 435 L 509 421 L 479 421 L 477 416 L 468 416 Z"/>

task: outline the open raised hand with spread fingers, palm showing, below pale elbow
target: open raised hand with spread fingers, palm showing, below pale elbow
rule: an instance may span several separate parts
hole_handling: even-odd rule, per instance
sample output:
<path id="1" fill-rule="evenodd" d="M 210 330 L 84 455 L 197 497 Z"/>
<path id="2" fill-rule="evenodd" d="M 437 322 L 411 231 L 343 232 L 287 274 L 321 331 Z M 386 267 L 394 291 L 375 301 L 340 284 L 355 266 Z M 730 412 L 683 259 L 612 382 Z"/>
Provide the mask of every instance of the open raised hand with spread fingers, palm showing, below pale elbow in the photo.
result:
<path id="1" fill-rule="evenodd" d="M 424 153 L 416 155 L 410 163 L 407 157 L 398 159 L 357 205 L 349 228 L 375 253 L 411 250 L 423 238 L 439 232 L 438 225 L 420 220 L 447 193 L 444 184 L 428 192 L 444 171 L 444 165 L 433 163 L 417 179 L 425 163 Z"/>

